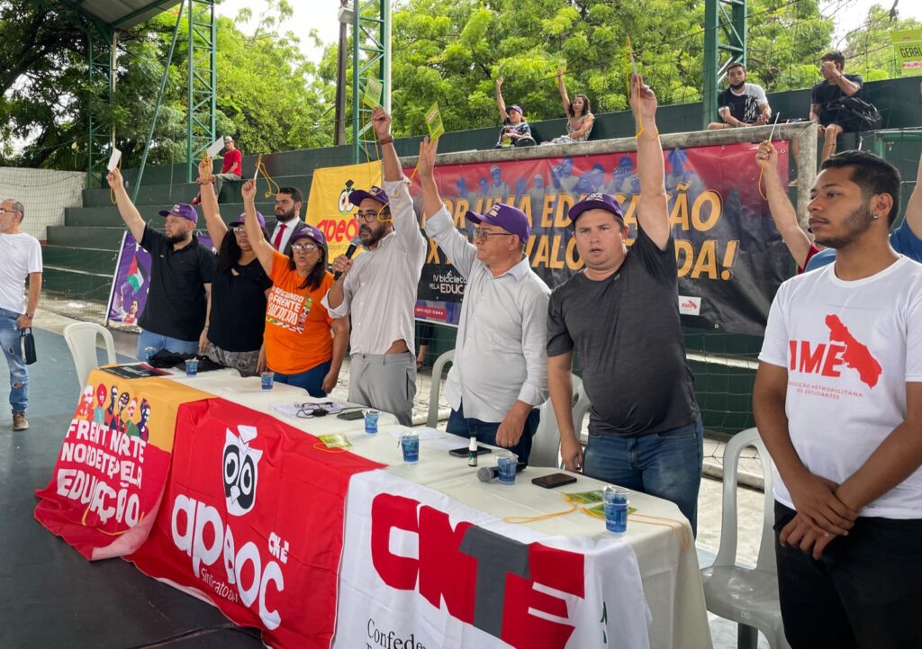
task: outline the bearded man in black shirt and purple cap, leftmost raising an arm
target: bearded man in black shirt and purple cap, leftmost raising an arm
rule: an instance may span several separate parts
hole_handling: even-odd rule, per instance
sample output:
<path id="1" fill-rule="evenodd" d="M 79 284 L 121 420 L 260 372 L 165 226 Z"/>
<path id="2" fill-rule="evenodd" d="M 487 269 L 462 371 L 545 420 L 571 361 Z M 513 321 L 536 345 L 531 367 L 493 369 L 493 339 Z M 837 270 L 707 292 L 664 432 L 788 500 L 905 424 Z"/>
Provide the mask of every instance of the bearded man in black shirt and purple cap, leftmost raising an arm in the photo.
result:
<path id="1" fill-rule="evenodd" d="M 179 354 L 195 354 L 205 328 L 211 280 L 217 263 L 215 255 L 195 238 L 198 214 L 195 207 L 177 203 L 160 212 L 166 217 L 166 233 L 149 228 L 124 189 L 122 174 L 110 171 L 109 186 L 115 204 L 128 230 L 150 254 L 148 301 L 138 325 L 138 359 L 146 359 L 145 349 L 167 349 Z"/>

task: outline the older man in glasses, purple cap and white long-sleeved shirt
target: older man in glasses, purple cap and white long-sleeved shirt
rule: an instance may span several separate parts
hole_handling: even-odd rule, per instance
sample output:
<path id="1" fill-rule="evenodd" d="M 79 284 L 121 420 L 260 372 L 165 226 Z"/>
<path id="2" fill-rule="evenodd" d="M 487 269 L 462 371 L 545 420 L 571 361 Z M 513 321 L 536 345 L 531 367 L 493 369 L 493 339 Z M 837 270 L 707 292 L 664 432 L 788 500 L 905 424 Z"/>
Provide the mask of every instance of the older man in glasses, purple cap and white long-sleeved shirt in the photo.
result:
<path id="1" fill-rule="evenodd" d="M 550 289 L 531 269 L 525 246 L 531 229 L 520 210 L 494 204 L 467 212 L 474 243 L 452 222 L 435 183 L 438 142 L 420 146 L 426 233 L 467 278 L 455 362 L 445 382 L 452 407 L 447 431 L 509 448 L 527 462 L 548 398 L 547 313 Z"/>

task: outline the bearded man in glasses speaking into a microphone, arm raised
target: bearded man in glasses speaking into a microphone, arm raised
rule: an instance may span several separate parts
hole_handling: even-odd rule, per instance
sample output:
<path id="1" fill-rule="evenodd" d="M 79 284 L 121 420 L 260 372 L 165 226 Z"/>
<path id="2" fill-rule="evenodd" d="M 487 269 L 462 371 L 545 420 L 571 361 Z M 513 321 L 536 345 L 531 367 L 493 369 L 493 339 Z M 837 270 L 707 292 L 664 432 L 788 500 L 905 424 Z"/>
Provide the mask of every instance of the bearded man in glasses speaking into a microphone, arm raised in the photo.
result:
<path id="1" fill-rule="evenodd" d="M 354 260 L 344 254 L 336 258 L 333 270 L 340 276 L 323 304 L 332 318 L 352 314 L 349 401 L 393 413 L 401 424 L 412 426 L 413 312 L 427 243 L 390 135 L 391 116 L 376 108 L 372 124 L 382 148 L 384 189 L 349 194 L 349 202 L 359 206 L 359 236 L 366 250 Z"/>

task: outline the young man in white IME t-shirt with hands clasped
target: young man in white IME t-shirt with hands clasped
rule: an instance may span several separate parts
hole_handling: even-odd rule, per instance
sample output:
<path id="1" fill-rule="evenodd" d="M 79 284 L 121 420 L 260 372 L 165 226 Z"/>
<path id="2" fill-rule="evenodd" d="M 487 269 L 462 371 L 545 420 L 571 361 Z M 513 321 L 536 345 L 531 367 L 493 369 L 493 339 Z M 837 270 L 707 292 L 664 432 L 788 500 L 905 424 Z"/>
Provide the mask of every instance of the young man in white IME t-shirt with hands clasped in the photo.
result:
<path id="1" fill-rule="evenodd" d="M 871 153 L 823 162 L 810 227 L 835 263 L 786 281 L 765 328 L 753 411 L 794 649 L 922 646 L 922 265 L 890 245 L 899 191 Z"/>

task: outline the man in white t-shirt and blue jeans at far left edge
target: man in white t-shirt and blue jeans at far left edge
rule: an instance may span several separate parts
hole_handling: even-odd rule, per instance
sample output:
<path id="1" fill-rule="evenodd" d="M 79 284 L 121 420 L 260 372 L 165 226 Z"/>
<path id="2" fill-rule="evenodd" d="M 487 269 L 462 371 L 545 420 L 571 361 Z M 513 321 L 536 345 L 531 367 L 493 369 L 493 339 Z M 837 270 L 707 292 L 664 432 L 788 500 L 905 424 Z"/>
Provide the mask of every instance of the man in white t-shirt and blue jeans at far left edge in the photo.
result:
<path id="1" fill-rule="evenodd" d="M 32 326 L 41 292 L 41 245 L 19 230 L 25 217 L 22 203 L 7 198 L 0 203 L 0 345 L 9 366 L 9 405 L 13 407 L 13 430 L 29 428 L 29 372 L 22 358 L 22 329 Z M 23 300 L 26 278 L 29 300 Z"/>

